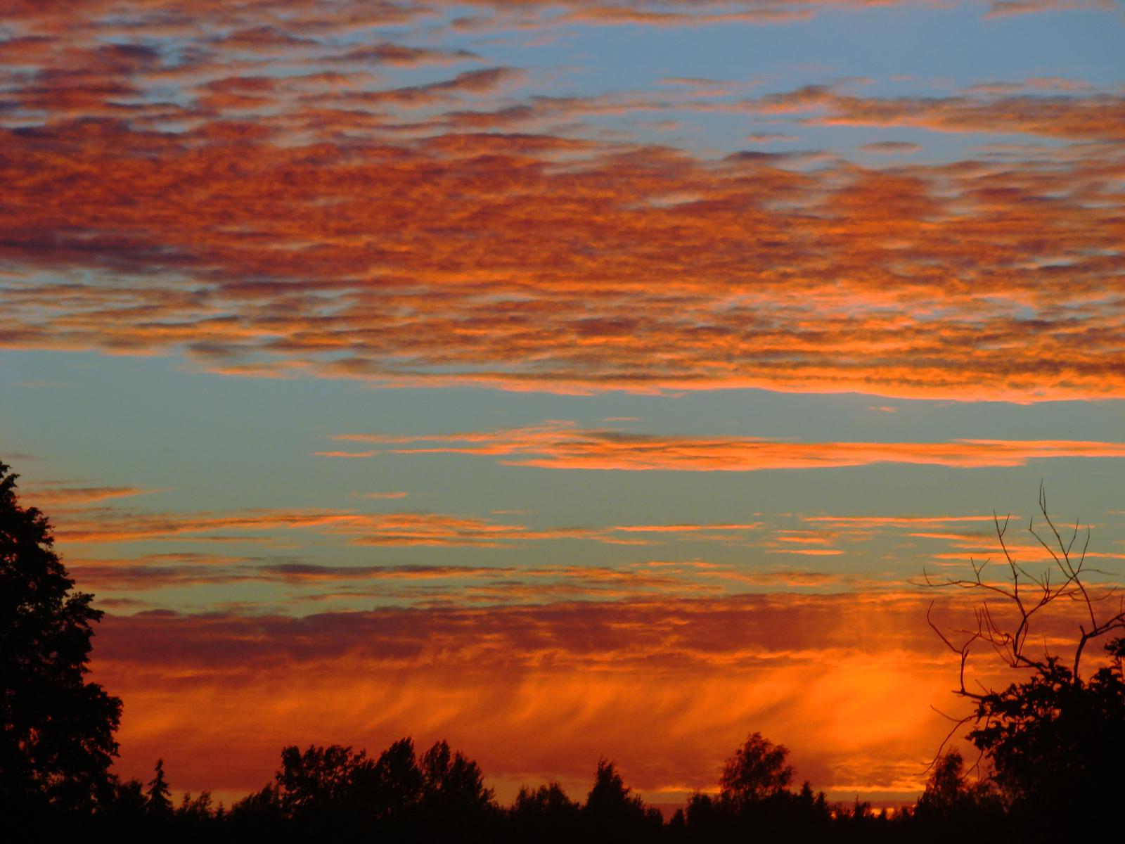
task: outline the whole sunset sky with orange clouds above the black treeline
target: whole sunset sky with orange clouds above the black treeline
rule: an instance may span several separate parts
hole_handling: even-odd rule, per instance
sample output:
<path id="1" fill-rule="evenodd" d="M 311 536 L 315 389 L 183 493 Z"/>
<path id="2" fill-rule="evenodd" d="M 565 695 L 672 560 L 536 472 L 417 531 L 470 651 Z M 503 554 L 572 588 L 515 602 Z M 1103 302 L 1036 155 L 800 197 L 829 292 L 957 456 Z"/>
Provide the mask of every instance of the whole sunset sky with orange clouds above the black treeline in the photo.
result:
<path id="1" fill-rule="evenodd" d="M 908 800 L 926 573 L 1038 571 L 1042 484 L 1122 581 L 1117 2 L 0 0 L 0 460 L 123 776 L 673 805 L 762 731 Z"/>

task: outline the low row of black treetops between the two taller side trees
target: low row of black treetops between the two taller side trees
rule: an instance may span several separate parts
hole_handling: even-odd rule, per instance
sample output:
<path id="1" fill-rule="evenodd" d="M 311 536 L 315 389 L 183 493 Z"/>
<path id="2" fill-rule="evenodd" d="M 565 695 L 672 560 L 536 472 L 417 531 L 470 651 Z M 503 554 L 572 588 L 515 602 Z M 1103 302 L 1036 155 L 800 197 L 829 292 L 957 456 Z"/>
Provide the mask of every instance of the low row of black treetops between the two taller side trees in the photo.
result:
<path id="1" fill-rule="evenodd" d="M 776 775 L 788 766 L 771 770 Z M 496 806 L 482 784 L 479 769 L 464 754 L 439 742 L 418 758 L 408 738 L 396 742 L 378 760 L 339 745 L 314 746 L 304 753 L 286 747 L 274 782 L 228 812 L 216 809 L 207 792 L 195 799 L 183 794 L 179 807 L 172 808 L 160 763 L 147 793 L 136 780 L 112 781 L 110 790 L 112 796 L 84 820 L 71 812 L 54 828 L 81 828 L 115 841 L 270 844 L 964 843 L 1038 841 L 1040 833 L 1052 828 L 1009 811 L 1002 794 L 988 781 L 971 782 L 955 752 L 935 765 L 914 809 L 893 816 L 875 812 L 858 800 L 830 803 L 806 782 L 799 791 L 771 787 L 741 800 L 722 791 L 695 793 L 685 810 L 665 823 L 604 758 L 584 805 L 573 801 L 558 783 L 550 783 L 521 789 L 504 809 Z M 1116 808 L 1113 801 L 1107 806 Z M 1068 828 L 1081 829 L 1083 823 L 1086 816 L 1069 811 Z"/>

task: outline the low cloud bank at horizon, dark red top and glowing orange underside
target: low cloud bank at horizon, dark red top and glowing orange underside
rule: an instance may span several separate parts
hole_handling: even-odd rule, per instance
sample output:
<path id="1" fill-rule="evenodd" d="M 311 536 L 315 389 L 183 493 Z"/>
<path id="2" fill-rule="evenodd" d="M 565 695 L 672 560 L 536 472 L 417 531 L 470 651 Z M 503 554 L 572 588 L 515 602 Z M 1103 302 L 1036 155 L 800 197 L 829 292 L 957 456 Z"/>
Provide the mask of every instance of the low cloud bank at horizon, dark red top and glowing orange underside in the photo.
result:
<path id="1" fill-rule="evenodd" d="M 686 792 L 713 788 L 749 730 L 791 747 L 817 788 L 916 791 L 946 730 L 930 704 L 954 706 L 930 598 L 138 613 L 102 622 L 93 676 L 125 700 L 118 771 L 160 754 L 192 791 L 260 788 L 284 744 L 378 751 L 412 735 L 448 738 L 493 782 L 559 778 L 580 794 L 605 754 L 631 785 Z M 955 625 L 969 607 L 939 598 L 935 612 Z M 990 666 L 971 664 L 1002 681 Z"/>

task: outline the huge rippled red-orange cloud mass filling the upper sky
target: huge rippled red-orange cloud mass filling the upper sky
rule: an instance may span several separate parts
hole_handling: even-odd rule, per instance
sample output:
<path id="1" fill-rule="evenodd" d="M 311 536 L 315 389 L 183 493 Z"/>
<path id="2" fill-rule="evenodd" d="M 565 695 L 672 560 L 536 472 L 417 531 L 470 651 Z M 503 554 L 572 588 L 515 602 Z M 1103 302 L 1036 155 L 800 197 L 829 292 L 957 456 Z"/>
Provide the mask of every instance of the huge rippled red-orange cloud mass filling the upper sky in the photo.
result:
<path id="1" fill-rule="evenodd" d="M 520 69 L 442 70 L 472 57 L 369 28 L 431 7 L 9 6 L 0 347 L 560 393 L 1125 396 L 1119 91 L 548 97 Z M 404 62 L 436 79 L 399 79 Z M 884 170 L 827 151 L 714 161 L 592 122 L 672 111 L 1052 145 Z"/>

